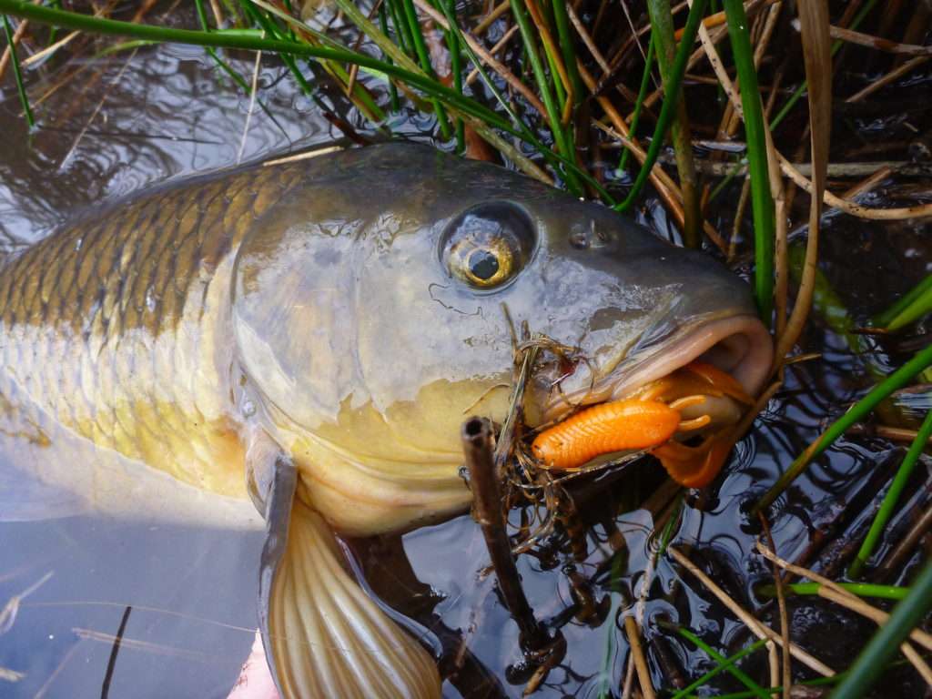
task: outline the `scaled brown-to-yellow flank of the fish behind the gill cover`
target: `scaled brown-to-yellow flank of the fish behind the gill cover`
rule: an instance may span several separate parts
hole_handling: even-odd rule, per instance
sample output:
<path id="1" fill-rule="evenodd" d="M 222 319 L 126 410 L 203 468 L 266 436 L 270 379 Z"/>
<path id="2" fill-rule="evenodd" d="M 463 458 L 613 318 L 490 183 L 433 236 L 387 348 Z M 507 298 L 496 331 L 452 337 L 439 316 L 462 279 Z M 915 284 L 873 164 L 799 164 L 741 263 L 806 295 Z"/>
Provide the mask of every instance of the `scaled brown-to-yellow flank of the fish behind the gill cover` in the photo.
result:
<path id="1" fill-rule="evenodd" d="M 117 205 L 0 260 L 0 397 L 96 445 L 244 494 L 229 388 L 233 253 L 298 181 L 253 168 Z M 226 367 L 224 361 L 226 359 Z"/>

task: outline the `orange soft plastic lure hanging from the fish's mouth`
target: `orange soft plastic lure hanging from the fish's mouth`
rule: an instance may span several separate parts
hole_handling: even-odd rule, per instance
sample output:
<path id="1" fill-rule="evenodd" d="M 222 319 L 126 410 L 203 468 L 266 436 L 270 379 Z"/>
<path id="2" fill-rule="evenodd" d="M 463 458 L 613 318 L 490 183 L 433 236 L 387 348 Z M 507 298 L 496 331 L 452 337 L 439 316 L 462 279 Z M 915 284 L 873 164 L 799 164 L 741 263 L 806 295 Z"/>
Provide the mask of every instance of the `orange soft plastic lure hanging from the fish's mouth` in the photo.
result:
<path id="1" fill-rule="evenodd" d="M 704 395 L 753 403 L 733 377 L 710 364 L 693 362 L 642 387 L 633 397 L 586 408 L 541 432 L 531 451 L 545 468 L 569 471 L 613 451 L 651 449 L 673 480 L 686 487 L 704 487 L 720 472 L 734 444 L 733 429 L 709 435 L 699 446 L 671 439 L 678 429 L 706 424 L 708 418 L 681 422 L 678 412 L 701 403 Z"/>

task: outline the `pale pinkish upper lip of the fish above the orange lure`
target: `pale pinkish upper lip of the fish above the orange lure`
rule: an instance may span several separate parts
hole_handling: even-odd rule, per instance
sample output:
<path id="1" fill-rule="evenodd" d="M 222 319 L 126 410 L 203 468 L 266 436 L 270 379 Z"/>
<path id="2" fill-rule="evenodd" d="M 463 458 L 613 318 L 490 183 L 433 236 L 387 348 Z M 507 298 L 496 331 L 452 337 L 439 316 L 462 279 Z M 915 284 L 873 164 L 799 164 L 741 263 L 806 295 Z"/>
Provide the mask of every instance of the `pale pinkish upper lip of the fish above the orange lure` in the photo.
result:
<path id="1" fill-rule="evenodd" d="M 721 349 L 720 354 L 725 356 L 704 356 L 714 348 Z M 729 357 L 729 353 L 740 356 Z M 680 328 L 672 337 L 638 354 L 641 355 L 639 359 L 633 363 L 618 363 L 586 390 L 553 391 L 542 406 L 541 424 L 558 422 L 584 405 L 624 398 L 641 386 L 668 376 L 698 359 L 716 364 L 737 379 L 748 395 L 754 396 L 770 372 L 774 345 L 761 320 L 742 313 Z"/>

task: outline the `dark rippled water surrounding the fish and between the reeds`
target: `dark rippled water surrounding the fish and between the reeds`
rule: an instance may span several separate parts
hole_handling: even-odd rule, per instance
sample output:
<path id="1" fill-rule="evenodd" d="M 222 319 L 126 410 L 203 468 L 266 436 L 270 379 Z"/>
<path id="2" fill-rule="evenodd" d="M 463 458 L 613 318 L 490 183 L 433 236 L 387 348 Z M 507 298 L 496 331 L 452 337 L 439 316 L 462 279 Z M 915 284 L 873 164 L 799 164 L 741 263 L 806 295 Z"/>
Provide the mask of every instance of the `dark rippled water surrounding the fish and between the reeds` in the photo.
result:
<path id="1" fill-rule="evenodd" d="M 251 75 L 251 56 L 232 62 L 240 73 Z M 248 130 L 248 97 L 219 79 L 199 48 L 143 48 L 132 55 L 55 62 L 27 77 L 33 85 L 58 87 L 37 105 L 42 128 L 29 134 L 12 80 L 7 77 L 0 86 L 4 249 L 39 240 L 76 212 L 146 185 L 233 165 L 238 159 L 331 144 L 345 135 L 295 91 L 284 69 L 272 61 L 263 63 L 259 84 L 277 123 L 255 108 Z M 34 89 L 34 94 L 42 91 Z M 322 99 L 330 100 L 326 89 Z M 359 132 L 372 133 L 354 113 L 336 111 Z M 424 125 L 403 114 L 395 117 L 395 126 L 396 132 L 417 137 Z M 866 121 L 864 129 L 870 128 Z M 649 199 L 646 210 L 658 208 Z M 650 213 L 645 218 L 657 221 Z M 661 228 L 663 224 L 661 218 Z M 929 233 L 929 226 L 918 223 L 865 223 L 829 216 L 822 269 L 843 302 L 863 320 L 932 271 Z M 906 349 L 890 343 L 865 340 L 865 347 L 881 366 L 896 365 L 906 356 Z M 674 540 L 774 627 L 774 610 L 753 592 L 753 586 L 768 582 L 771 573 L 753 553 L 759 528 L 748 521 L 742 505 L 773 483 L 829 418 L 872 383 L 842 338 L 817 320 L 805 338 L 805 349 L 821 352 L 821 357 L 788 371 L 784 389 L 737 446 L 727 474 L 706 497 L 688 500 Z M 829 544 L 839 536 L 844 539 L 846 531 L 871 514 L 900 456 L 901 449 L 884 440 L 840 440 L 774 506 L 773 534 L 780 555 L 796 559 L 820 537 Z M 567 536 L 560 532 L 539 555 L 519 560 L 538 617 L 561 627 L 568 641 L 565 661 L 537 696 L 595 697 L 603 668 L 609 669 L 610 687 L 618 693 L 628 649 L 618 629 L 621 617 L 610 613 L 613 554 L 608 540 L 610 529 L 618 528 L 626 541 L 622 594 L 615 595 L 615 610 L 624 610 L 637 597 L 651 558 L 651 517 L 637 509 L 636 493 L 648 492 L 659 478 L 654 466 L 640 469 L 642 473 L 598 488 L 598 497 L 578 502 L 589 534 L 582 560 L 569 554 Z M 925 505 L 932 487 L 926 462 L 917 472 L 907 490 L 910 506 Z M 619 501 L 632 502 L 632 511 L 617 514 Z M 908 515 L 899 516 L 893 531 L 901 535 L 909 524 Z M 22 601 L 15 623 L 0 634 L 0 666 L 25 674 L 15 683 L 0 680 L 0 696 L 99 695 L 111 651 L 106 635 L 117 633 L 126 605 L 133 610 L 111 696 L 226 696 L 252 642 L 261 543 L 259 534 L 155 528 L 93 517 L 0 524 L 0 605 L 53 573 Z M 376 591 L 429 629 L 435 647 L 442 641 L 445 663 L 465 643 L 472 657 L 459 680 L 445 685 L 449 696 L 520 696 L 523 678 L 510 669 L 520 657 L 517 628 L 492 580 L 480 577 L 487 554 L 468 516 L 405 535 L 410 567 L 398 555 L 397 538 L 356 542 L 353 549 L 369 579 L 377 583 Z M 809 564 L 825 569 L 831 565 L 829 554 L 819 551 Z M 923 555 L 915 555 L 900 580 L 890 582 L 908 579 Z M 591 582 L 598 610 L 594 621 L 573 620 L 568 566 Z M 662 632 L 650 622 L 665 617 L 691 628 L 723 653 L 747 645 L 742 624 L 694 579 L 681 577 L 668 558 L 659 561 L 650 590 L 644 610 L 651 637 Z M 871 624 L 815 598 L 792 599 L 790 614 L 797 642 L 836 669 L 851 663 L 872 630 Z M 669 686 L 658 643 L 686 676 L 697 677 L 709 666 L 701 651 L 665 636 L 651 643 L 655 686 Z M 765 681 L 763 652 L 745 667 Z M 921 692 L 908 672 L 891 679 L 885 695 Z M 716 686 L 722 691 L 740 689 L 727 677 Z"/>

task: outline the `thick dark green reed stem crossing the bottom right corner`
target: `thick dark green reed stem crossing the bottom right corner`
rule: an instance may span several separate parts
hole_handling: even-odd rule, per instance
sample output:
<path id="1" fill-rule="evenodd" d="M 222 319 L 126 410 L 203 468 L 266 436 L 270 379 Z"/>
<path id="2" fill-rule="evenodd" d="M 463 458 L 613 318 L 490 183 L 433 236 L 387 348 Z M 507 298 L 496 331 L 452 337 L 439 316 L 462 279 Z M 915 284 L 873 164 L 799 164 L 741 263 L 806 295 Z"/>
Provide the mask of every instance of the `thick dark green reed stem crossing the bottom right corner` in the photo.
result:
<path id="1" fill-rule="evenodd" d="M 830 699 L 859 699 L 886 669 L 891 658 L 899 652 L 899 644 L 920 624 L 932 610 L 932 561 L 911 585 L 910 594 L 893 608 L 890 618 L 870 639 L 867 647 L 857 656 Z"/>

